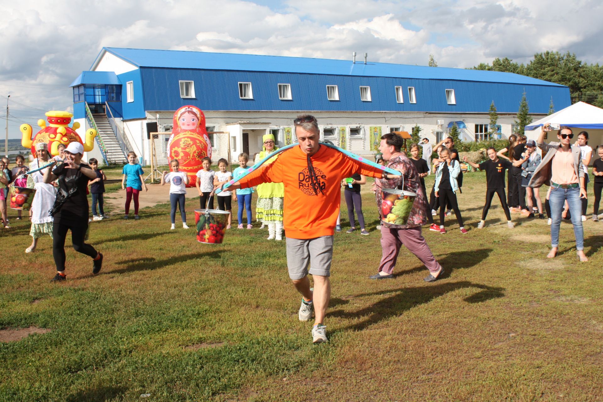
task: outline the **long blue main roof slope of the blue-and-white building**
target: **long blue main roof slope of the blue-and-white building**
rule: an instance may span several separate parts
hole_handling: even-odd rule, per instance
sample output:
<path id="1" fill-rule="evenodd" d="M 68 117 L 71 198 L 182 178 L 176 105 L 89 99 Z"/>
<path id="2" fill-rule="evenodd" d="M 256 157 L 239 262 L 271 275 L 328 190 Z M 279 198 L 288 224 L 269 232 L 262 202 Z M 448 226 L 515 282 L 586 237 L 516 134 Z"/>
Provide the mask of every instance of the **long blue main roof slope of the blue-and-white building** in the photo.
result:
<path id="1" fill-rule="evenodd" d="M 411 66 L 408 64 L 374 63 L 324 58 L 284 57 L 254 54 L 209 53 L 176 50 L 103 48 L 92 68 L 104 52 L 109 52 L 137 67 L 181 68 L 250 72 L 283 72 L 328 74 L 356 77 L 416 78 L 426 80 L 481 81 L 540 86 L 562 85 L 524 75 L 498 71 Z"/>

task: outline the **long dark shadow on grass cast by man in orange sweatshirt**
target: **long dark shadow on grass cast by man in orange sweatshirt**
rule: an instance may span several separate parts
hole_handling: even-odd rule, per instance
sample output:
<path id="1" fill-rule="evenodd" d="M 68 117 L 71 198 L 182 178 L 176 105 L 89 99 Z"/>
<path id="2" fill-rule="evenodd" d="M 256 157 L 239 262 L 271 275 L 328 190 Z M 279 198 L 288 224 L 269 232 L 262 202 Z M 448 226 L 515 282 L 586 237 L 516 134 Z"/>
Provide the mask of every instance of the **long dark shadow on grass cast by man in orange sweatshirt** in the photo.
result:
<path id="1" fill-rule="evenodd" d="M 435 285 L 425 285 L 416 287 L 401 287 L 400 289 L 392 289 L 388 291 L 371 292 L 366 294 L 355 295 L 354 298 L 375 296 L 375 295 L 389 295 L 377 303 L 371 304 L 371 306 L 364 307 L 361 310 L 346 312 L 344 310 L 335 310 L 329 312 L 329 316 L 336 316 L 341 318 L 358 318 L 364 317 L 362 321 L 357 324 L 349 325 L 336 331 L 347 331 L 347 330 L 362 330 L 370 325 L 377 324 L 377 322 L 384 319 L 391 318 L 393 316 L 401 315 L 420 304 L 429 303 L 437 297 L 443 296 L 449 292 L 456 291 L 457 289 L 466 289 L 470 287 L 476 287 L 481 291 L 476 292 L 469 297 L 463 299 L 467 303 L 482 303 L 483 301 L 492 300 L 495 298 L 504 297 L 504 287 L 493 287 L 479 283 L 472 283 L 470 281 L 458 281 L 458 282 L 444 282 Z M 333 299 L 334 304 L 346 304 L 349 300 L 341 300 L 338 298 Z"/>

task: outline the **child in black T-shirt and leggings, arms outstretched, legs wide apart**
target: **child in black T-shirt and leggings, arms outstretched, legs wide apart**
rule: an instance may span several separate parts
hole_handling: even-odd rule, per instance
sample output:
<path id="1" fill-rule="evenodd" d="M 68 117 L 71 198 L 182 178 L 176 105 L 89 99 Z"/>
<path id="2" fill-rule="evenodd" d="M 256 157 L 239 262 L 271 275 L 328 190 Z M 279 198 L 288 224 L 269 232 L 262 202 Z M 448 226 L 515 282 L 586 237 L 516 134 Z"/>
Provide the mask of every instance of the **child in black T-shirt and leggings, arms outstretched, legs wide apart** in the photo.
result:
<path id="1" fill-rule="evenodd" d="M 463 160 L 473 166 L 473 168 L 486 172 L 486 203 L 484 205 L 484 210 L 482 211 L 482 220 L 479 221 L 478 229 L 482 229 L 485 226 L 486 215 L 488 215 L 488 209 L 490 209 L 494 194 L 498 195 L 500 205 L 502 205 L 502 209 L 505 211 L 507 226 L 513 228 L 514 225 L 511 221 L 511 213 L 507 206 L 507 196 L 505 196 L 505 169 L 511 169 L 511 167 L 514 166 L 514 163 L 512 164 L 505 159 L 499 159 L 498 155 L 496 155 L 496 149 L 494 148 L 488 148 L 487 154 L 488 160 L 479 165 L 477 163 L 469 162 L 467 157 L 463 158 Z M 520 162 L 518 162 L 519 165 L 521 164 Z"/>

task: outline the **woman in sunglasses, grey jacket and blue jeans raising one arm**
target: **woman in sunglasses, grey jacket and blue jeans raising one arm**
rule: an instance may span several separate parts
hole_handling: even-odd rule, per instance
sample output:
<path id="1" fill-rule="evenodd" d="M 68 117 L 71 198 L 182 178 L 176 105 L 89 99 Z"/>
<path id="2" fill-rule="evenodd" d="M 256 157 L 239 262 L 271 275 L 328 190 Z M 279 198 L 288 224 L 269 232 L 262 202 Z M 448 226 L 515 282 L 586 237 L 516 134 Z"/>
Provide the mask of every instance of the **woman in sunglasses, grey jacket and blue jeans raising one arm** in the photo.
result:
<path id="1" fill-rule="evenodd" d="M 586 198 L 586 183 L 579 146 L 570 145 L 573 138 L 572 129 L 560 127 L 557 138 L 560 142 L 545 142 L 545 134 L 551 131 L 545 125 L 540 131 L 536 145 L 546 152 L 540 165 L 532 174 L 528 186 L 535 188 L 542 184 L 551 186 L 549 203 L 551 204 L 551 251 L 548 258 L 557 256 L 559 248 L 559 227 L 561 211 L 567 201 L 572 214 L 573 233 L 576 237 L 576 254 L 580 261 L 589 259 L 584 254 L 584 229 L 582 228 L 582 198 Z"/>

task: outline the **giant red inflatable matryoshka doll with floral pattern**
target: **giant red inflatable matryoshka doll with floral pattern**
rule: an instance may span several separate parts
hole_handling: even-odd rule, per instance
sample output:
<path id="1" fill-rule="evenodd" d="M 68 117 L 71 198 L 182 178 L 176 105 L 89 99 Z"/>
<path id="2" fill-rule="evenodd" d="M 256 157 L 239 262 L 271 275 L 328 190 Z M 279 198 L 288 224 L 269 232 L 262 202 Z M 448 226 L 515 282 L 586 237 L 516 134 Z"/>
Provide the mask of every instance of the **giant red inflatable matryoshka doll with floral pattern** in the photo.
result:
<path id="1" fill-rule="evenodd" d="M 177 159 L 180 170 L 189 177 L 188 187 L 195 187 L 201 160 L 212 157 L 212 144 L 205 129 L 205 116 L 197 107 L 186 105 L 174 113 L 172 135 L 168 140 L 168 159 Z"/>

